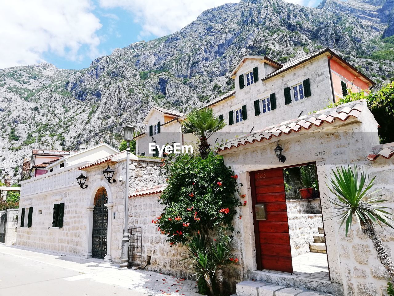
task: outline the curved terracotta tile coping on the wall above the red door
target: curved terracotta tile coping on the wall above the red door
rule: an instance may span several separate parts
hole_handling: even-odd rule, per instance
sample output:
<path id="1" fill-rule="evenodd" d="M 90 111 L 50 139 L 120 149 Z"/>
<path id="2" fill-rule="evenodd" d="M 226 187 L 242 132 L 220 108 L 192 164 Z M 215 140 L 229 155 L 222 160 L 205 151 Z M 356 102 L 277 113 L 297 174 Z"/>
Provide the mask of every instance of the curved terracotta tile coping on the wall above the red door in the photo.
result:
<path id="1" fill-rule="evenodd" d="M 266 127 L 265 129 L 256 131 L 253 134 L 247 134 L 240 136 L 239 138 L 232 139 L 216 151 L 225 151 L 234 147 L 269 140 L 272 137 L 280 137 L 283 134 L 288 135 L 292 131 L 297 133 L 303 129 L 310 129 L 312 126 L 322 126 L 325 122 L 331 124 L 337 119 L 346 121 L 351 116 L 358 118 L 363 109 L 363 106 L 360 103 L 360 101 L 353 102 L 352 104 L 347 103 L 335 108 L 323 110 L 321 113 L 318 112 L 317 114 L 310 114 L 301 118 L 282 122 L 276 126 Z"/>

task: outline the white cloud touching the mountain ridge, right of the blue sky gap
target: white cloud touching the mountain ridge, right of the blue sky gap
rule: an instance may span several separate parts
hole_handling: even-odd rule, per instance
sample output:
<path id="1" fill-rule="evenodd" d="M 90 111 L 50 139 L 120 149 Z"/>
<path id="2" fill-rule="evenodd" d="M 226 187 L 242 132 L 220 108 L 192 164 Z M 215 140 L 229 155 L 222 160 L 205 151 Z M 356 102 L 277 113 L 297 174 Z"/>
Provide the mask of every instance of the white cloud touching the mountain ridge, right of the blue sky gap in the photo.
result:
<path id="1" fill-rule="evenodd" d="M 134 16 L 140 37 L 165 36 L 194 21 L 206 9 L 239 0 L 100 0 L 103 8 L 122 7 Z"/>

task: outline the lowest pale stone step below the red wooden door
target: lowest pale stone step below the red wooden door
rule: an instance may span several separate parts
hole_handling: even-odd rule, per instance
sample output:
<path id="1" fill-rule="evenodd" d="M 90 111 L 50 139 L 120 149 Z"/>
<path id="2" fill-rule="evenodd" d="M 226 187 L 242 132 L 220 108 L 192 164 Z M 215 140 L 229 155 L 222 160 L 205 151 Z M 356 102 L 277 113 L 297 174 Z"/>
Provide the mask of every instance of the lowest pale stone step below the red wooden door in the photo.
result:
<path id="1" fill-rule="evenodd" d="M 237 296 L 332 296 L 323 292 L 285 287 L 258 281 L 243 281 L 236 285 Z"/>

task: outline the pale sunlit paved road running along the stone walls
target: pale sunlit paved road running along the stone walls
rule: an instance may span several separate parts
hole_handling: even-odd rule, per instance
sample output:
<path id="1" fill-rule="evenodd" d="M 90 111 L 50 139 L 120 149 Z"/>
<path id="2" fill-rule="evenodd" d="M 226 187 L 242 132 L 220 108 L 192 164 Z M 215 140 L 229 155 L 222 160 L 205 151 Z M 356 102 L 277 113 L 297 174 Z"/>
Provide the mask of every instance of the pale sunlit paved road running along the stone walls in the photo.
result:
<path id="1" fill-rule="evenodd" d="M 0 245 L 0 296 L 199 295 L 195 291 L 193 281 Z"/>

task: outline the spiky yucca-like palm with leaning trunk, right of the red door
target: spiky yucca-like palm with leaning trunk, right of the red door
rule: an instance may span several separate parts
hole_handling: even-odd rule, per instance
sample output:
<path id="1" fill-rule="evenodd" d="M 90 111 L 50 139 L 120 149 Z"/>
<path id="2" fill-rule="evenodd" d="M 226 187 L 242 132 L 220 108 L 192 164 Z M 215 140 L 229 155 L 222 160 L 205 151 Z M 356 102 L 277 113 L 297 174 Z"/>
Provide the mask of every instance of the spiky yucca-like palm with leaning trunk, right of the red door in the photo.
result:
<path id="1" fill-rule="evenodd" d="M 332 170 L 333 176 L 328 178 L 331 185 L 327 184 L 329 190 L 337 199 L 329 198 L 332 207 L 338 213 L 335 217 L 340 217 L 340 227 L 345 224 L 345 236 L 351 229 L 353 216 L 356 218 L 363 234 L 372 240 L 372 244 L 377 252 L 377 258 L 381 264 L 388 270 L 391 283 L 394 283 L 394 264 L 388 255 L 382 240 L 376 235 L 375 226 L 387 225 L 394 228 L 392 222 L 393 214 L 387 212 L 388 207 L 381 206 L 386 200 L 381 199 L 370 190 L 374 185 L 374 178 L 369 181 L 369 175 L 361 172 L 360 180 L 356 166 L 352 170 L 350 166 L 337 167 Z"/>

